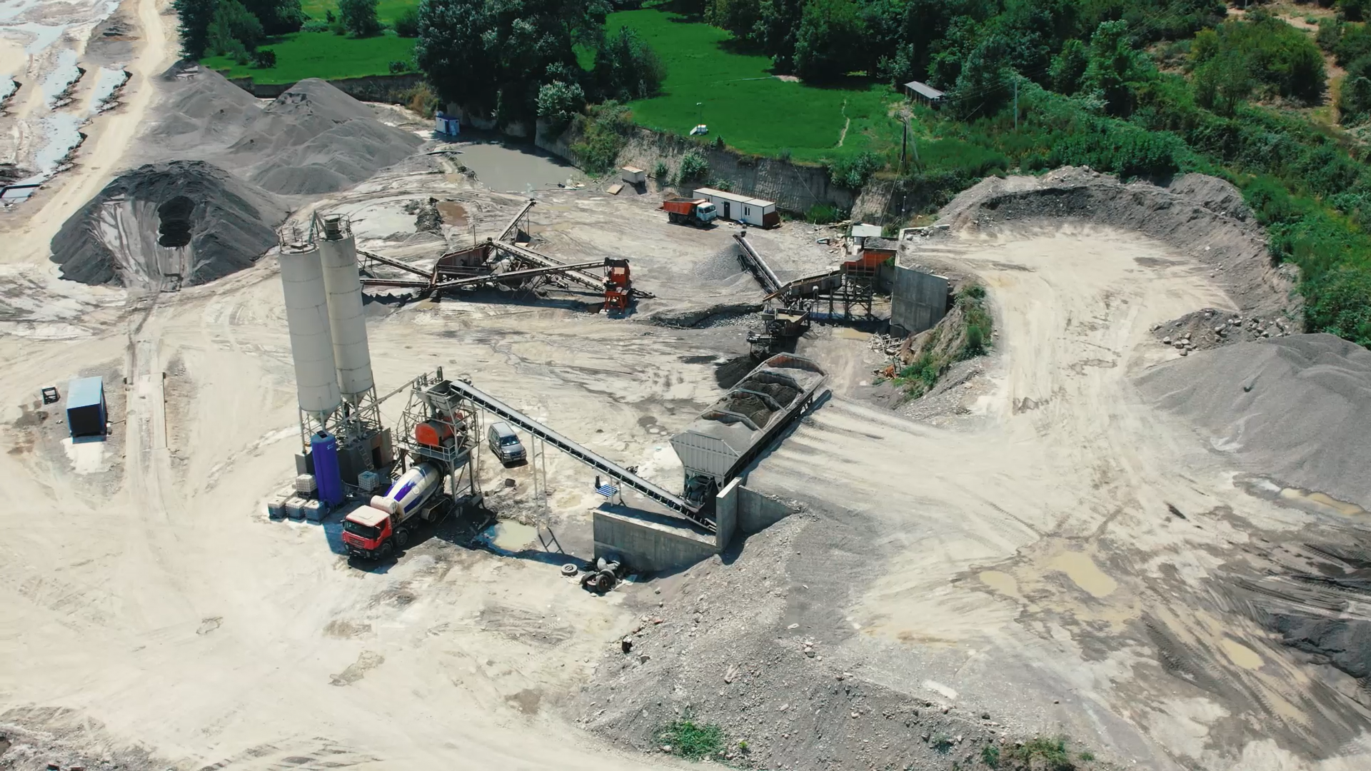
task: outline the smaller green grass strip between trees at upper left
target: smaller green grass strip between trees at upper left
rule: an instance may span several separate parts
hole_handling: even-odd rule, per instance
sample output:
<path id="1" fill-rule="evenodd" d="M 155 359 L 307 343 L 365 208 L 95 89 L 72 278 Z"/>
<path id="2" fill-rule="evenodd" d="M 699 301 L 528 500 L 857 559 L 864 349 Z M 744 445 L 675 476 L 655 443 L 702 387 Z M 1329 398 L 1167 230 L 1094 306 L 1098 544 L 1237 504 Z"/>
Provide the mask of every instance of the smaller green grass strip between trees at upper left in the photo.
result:
<path id="1" fill-rule="evenodd" d="M 413 66 L 410 62 L 414 59 L 414 38 L 396 37 L 389 32 L 362 38 L 332 32 L 298 32 L 281 36 L 262 48 L 276 52 L 274 67 L 239 64 L 228 56 L 210 56 L 200 63 L 229 78 L 250 77 L 259 84 L 293 84 L 304 78 L 385 75 L 391 71 L 391 62 Z"/>

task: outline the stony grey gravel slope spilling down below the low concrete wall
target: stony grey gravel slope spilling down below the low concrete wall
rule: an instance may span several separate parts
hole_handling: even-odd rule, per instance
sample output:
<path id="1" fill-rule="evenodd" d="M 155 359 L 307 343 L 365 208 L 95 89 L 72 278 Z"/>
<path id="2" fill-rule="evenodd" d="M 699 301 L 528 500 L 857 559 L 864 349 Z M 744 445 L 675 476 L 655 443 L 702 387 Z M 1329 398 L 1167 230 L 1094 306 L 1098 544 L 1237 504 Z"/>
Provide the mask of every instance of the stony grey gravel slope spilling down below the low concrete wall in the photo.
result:
<path id="1" fill-rule="evenodd" d="M 883 672 L 846 650 L 857 632 L 838 608 L 849 569 L 868 571 L 869 554 L 834 549 L 832 536 L 823 514 L 794 514 L 727 565 L 712 557 L 618 590 L 642 615 L 628 650 L 607 641 L 568 705 L 573 719 L 658 755 L 675 749 L 662 744 L 664 726 L 717 724 L 723 757 L 710 760 L 740 768 L 984 768 L 983 748 L 1008 755 L 1021 744 L 1026 731 L 987 708 L 886 687 Z"/>

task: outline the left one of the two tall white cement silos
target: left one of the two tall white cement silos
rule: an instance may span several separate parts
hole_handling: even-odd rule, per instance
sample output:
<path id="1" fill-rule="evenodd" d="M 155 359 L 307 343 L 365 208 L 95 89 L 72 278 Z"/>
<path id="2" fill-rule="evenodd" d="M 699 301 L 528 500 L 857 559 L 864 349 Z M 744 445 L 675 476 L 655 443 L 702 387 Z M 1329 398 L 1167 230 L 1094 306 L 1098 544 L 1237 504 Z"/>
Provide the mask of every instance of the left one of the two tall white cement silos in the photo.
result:
<path id="1" fill-rule="evenodd" d="M 339 409 L 341 399 L 319 250 L 313 244 L 284 246 L 280 263 L 291 358 L 295 359 L 295 391 L 300 409 L 322 421 Z"/>

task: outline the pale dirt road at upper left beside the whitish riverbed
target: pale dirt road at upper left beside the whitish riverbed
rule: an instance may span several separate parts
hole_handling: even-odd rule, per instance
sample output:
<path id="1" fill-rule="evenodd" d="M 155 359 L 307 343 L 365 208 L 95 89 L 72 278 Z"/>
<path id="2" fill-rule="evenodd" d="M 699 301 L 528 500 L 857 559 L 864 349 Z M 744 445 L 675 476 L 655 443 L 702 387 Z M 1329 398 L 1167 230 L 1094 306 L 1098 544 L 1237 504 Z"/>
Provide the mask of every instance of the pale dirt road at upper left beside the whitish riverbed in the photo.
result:
<path id="1" fill-rule="evenodd" d="M 163 16 L 158 0 L 126 0 L 137 4 L 140 41 L 129 63 L 123 104 L 85 126 L 86 141 L 77 151 L 75 167 L 47 182 L 47 189 L 14 213 L 0 218 L 8 248 L 4 262 L 47 262 L 48 244 L 63 222 L 90 200 L 121 170 L 119 162 L 143 128 L 155 86 L 151 78 L 175 56 L 175 16 Z"/>

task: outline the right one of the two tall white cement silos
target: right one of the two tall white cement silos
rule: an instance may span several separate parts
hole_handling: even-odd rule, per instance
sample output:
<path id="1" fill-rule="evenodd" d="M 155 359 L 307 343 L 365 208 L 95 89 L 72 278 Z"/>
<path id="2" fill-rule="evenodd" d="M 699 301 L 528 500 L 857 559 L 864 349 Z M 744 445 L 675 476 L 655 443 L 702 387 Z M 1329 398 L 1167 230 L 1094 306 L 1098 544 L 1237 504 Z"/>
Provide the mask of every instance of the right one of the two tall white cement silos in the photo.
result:
<path id="1" fill-rule="evenodd" d="M 343 398 L 356 403 L 374 386 L 372 351 L 366 343 L 366 316 L 362 311 L 362 280 L 356 270 L 356 241 L 352 239 L 351 224 L 341 214 L 325 217 L 322 225 L 322 237 L 315 243 L 329 298 L 337 383 Z"/>

